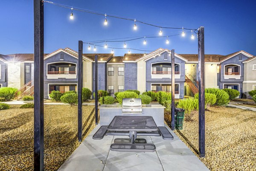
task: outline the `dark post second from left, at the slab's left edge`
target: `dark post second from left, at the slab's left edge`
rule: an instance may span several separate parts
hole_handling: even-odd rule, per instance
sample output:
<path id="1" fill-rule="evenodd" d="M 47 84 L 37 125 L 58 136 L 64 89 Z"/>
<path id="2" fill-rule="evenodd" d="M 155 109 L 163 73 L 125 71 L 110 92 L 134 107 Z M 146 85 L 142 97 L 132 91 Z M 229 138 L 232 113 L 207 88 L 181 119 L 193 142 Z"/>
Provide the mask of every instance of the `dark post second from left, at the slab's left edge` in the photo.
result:
<path id="1" fill-rule="evenodd" d="M 78 141 L 82 140 L 83 42 L 78 41 Z"/>

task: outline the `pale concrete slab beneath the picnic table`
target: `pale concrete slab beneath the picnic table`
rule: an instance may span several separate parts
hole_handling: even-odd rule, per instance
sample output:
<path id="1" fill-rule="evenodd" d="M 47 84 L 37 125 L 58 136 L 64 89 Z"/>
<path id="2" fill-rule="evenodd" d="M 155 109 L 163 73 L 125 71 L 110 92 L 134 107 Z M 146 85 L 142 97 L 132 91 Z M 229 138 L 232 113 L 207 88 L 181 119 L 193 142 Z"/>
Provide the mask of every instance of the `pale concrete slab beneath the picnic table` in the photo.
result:
<path id="1" fill-rule="evenodd" d="M 174 140 L 160 136 L 138 136 L 156 146 L 155 152 L 110 151 L 116 138 L 92 139 L 100 125 L 87 136 L 58 171 L 209 171 L 198 157 L 169 129 Z"/>

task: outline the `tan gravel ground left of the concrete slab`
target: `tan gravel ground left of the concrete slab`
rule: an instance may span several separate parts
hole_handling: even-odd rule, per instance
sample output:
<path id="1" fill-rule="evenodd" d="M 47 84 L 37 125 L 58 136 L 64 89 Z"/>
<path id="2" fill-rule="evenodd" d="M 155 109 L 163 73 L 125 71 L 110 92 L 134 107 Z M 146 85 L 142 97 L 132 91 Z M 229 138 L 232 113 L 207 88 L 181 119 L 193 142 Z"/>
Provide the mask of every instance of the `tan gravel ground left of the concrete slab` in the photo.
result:
<path id="1" fill-rule="evenodd" d="M 32 171 L 34 162 L 33 109 L 13 105 L 0 111 L 0 170 Z M 83 106 L 83 138 L 95 128 L 93 106 Z M 80 145 L 77 141 L 77 107 L 44 106 L 44 163 L 55 171 Z"/>

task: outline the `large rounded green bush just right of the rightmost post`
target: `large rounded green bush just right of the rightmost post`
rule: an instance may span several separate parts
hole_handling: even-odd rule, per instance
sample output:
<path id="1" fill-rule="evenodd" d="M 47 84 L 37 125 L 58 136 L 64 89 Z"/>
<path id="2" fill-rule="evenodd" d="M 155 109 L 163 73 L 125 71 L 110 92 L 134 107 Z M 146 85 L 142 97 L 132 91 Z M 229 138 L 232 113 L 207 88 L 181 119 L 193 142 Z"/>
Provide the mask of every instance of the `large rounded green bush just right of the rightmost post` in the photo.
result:
<path id="1" fill-rule="evenodd" d="M 205 89 L 205 93 L 215 94 L 216 96 L 216 104 L 226 105 L 229 100 L 229 95 L 224 91 L 218 88 L 207 88 Z"/>

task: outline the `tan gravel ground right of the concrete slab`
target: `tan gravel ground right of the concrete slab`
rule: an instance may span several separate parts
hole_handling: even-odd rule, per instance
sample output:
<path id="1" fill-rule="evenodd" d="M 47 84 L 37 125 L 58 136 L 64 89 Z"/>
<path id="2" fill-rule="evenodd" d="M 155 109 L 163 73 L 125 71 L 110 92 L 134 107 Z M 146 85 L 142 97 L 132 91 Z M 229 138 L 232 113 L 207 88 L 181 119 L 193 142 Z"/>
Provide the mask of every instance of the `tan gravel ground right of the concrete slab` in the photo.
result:
<path id="1" fill-rule="evenodd" d="M 165 114 L 167 123 L 170 117 Z M 175 130 L 198 156 L 198 115 Z M 256 112 L 232 107 L 210 107 L 205 112 L 206 157 L 211 171 L 256 171 Z"/>

